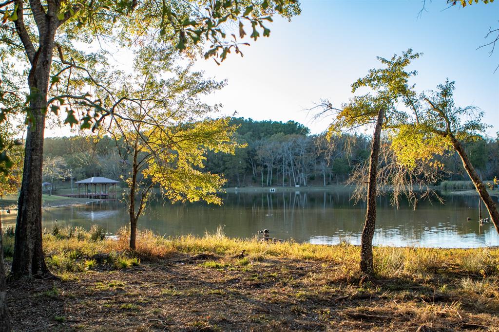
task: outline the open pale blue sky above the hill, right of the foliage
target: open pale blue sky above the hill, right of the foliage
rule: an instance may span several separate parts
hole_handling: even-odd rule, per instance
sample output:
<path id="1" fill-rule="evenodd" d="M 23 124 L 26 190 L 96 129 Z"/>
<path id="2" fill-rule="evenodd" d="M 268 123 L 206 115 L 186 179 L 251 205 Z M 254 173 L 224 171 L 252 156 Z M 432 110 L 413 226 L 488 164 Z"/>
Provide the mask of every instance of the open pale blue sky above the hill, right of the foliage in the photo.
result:
<path id="1" fill-rule="evenodd" d="M 327 120 L 312 121 L 306 109 L 321 98 L 340 105 L 351 96 L 350 84 L 378 66 L 376 56 L 391 57 L 409 47 L 424 53 L 414 62 L 419 89 L 434 89 L 448 77 L 456 81 L 458 106 L 474 105 L 484 122 L 499 130 L 499 44 L 487 42 L 499 27 L 499 0 L 446 9 L 445 0 L 302 0 L 302 13 L 291 22 L 275 19 L 269 38 L 251 40 L 243 58 L 231 54 L 221 66 L 199 60 L 197 69 L 229 84 L 209 98 L 223 103 L 226 114 L 256 120 L 295 120 L 312 133 Z M 491 39 L 492 36 L 489 38 Z"/>

